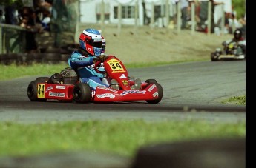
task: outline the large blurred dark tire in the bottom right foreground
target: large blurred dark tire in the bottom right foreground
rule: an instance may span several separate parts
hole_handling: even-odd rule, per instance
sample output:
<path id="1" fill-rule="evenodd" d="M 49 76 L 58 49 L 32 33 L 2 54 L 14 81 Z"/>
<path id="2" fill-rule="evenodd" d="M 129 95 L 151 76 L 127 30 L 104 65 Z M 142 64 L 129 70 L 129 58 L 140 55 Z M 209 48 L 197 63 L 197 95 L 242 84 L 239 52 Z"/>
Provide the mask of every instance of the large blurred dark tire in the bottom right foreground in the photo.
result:
<path id="1" fill-rule="evenodd" d="M 246 165 L 245 138 L 202 139 L 141 147 L 131 168 L 240 168 Z"/>

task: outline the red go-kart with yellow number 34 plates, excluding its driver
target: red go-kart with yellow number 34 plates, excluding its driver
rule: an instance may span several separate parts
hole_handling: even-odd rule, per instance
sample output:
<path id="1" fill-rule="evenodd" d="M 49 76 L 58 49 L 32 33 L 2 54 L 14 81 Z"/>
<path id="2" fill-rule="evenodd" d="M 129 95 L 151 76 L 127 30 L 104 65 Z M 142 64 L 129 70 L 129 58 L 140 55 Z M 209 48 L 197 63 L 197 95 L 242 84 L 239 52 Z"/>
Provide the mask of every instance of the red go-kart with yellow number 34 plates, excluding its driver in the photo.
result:
<path id="1" fill-rule="evenodd" d="M 101 61 L 94 64 L 98 73 L 103 73 L 102 82 L 109 87 L 96 87 L 92 90 L 87 83 L 82 83 L 76 72 L 66 68 L 68 73 L 53 74 L 49 77 L 39 77 L 31 81 L 27 87 L 27 96 L 30 101 L 75 101 L 76 103 L 89 102 L 114 102 L 114 101 L 146 101 L 148 104 L 157 104 L 163 98 L 163 87 L 155 79 L 147 79 L 138 83 L 133 77 L 128 76 L 122 61 L 115 56 L 108 56 L 104 61 L 105 71 L 100 71 Z M 63 71 L 63 70 L 62 70 Z M 111 86 L 115 79 L 117 87 Z"/>

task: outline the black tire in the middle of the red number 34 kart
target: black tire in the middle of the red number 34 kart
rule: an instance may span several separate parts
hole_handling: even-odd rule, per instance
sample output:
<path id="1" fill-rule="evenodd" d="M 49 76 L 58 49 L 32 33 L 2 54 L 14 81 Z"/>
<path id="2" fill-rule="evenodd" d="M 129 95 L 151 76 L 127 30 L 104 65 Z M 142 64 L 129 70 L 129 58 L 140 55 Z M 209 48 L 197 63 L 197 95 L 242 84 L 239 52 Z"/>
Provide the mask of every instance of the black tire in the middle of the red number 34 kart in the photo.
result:
<path id="1" fill-rule="evenodd" d="M 91 87 L 89 84 L 76 84 L 73 88 L 73 100 L 76 101 L 76 103 L 88 103 L 91 101 Z"/>

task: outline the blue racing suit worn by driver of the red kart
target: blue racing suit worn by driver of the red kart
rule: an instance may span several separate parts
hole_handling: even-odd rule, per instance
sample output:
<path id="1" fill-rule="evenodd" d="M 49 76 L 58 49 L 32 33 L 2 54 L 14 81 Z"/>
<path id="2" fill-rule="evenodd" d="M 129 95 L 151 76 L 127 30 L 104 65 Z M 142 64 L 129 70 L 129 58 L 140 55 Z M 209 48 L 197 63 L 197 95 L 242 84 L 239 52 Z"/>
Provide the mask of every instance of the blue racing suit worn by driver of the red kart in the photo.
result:
<path id="1" fill-rule="evenodd" d="M 68 58 L 68 64 L 76 71 L 80 81 L 89 84 L 91 89 L 96 90 L 97 86 L 108 87 L 108 85 L 102 83 L 103 74 L 94 70 L 94 58 L 96 56 L 82 56 L 78 51 L 74 51 Z M 100 67 L 99 70 L 104 71 L 104 67 Z"/>

